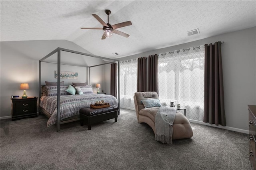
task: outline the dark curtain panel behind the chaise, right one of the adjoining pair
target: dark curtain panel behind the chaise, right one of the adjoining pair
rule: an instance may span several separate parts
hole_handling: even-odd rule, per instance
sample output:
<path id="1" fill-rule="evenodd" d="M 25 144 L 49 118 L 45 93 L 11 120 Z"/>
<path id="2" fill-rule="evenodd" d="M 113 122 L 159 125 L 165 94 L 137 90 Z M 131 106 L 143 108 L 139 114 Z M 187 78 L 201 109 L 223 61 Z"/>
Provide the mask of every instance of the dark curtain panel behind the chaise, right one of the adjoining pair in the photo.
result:
<path id="1" fill-rule="evenodd" d="M 148 90 L 158 94 L 158 55 L 148 56 Z"/>

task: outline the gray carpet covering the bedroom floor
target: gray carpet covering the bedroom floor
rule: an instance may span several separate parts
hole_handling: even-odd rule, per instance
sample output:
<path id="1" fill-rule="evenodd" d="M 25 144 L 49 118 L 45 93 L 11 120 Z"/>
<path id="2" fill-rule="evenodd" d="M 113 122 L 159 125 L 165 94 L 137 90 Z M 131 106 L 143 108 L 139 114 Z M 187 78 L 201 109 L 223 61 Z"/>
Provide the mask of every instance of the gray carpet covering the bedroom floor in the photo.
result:
<path id="1" fill-rule="evenodd" d="M 47 118 L 1 120 L 1 170 L 250 170 L 248 135 L 191 123 L 194 136 L 162 144 L 134 111 L 80 126 L 46 127 Z"/>

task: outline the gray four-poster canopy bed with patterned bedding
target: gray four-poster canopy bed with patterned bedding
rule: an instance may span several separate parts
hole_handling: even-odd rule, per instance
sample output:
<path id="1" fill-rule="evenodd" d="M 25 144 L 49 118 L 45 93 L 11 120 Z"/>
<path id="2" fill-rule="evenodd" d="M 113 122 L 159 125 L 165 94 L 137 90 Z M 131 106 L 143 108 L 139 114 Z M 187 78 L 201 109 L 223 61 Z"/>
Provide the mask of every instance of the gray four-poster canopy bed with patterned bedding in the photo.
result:
<path id="1" fill-rule="evenodd" d="M 92 65 L 92 66 L 81 66 L 81 65 L 66 64 L 66 63 L 64 64 L 64 63 L 61 63 L 61 61 L 60 61 L 60 59 L 61 59 L 60 52 L 61 51 L 80 54 L 80 55 L 88 56 L 88 57 L 104 59 L 104 60 L 107 60 L 110 62 L 102 63 L 102 64 L 98 64 L 98 65 Z M 55 53 L 57 53 L 57 62 L 46 61 L 46 59 L 48 57 L 54 55 Z M 41 63 L 42 62 L 57 64 L 57 85 L 55 87 L 46 85 L 46 88 L 48 91 L 50 91 L 50 90 L 54 91 L 54 92 L 51 91 L 51 95 L 42 95 L 43 94 L 42 93 L 42 85 L 41 85 L 41 71 L 42 71 Z M 40 96 L 39 113 L 43 113 L 44 115 L 46 115 L 46 117 L 49 118 L 47 126 L 49 127 L 56 123 L 57 131 L 60 131 L 61 124 L 80 120 L 79 109 L 82 107 L 90 107 L 90 104 L 92 104 L 92 102 L 94 102 L 95 100 L 103 99 L 104 101 L 110 103 L 110 105 L 118 105 L 118 108 L 120 108 L 120 106 L 119 106 L 120 105 L 120 91 L 119 90 L 117 93 L 117 99 L 116 99 L 116 97 L 111 96 L 111 95 L 100 95 L 100 94 L 91 93 L 90 91 L 92 91 L 92 90 L 90 90 L 90 88 L 91 88 L 90 85 L 88 85 L 87 87 L 86 86 L 78 86 L 78 87 L 81 87 L 84 89 L 86 89 L 86 88 L 89 89 L 89 92 L 86 91 L 86 94 L 82 93 L 81 95 L 68 95 L 65 93 L 66 89 L 68 87 L 63 86 L 63 84 L 61 84 L 62 82 L 60 82 L 60 65 L 87 67 L 88 83 L 90 84 L 90 68 L 91 67 L 97 67 L 97 66 L 112 64 L 112 63 L 118 63 L 118 89 L 120 89 L 119 60 L 109 59 L 106 57 L 100 57 L 97 55 L 82 53 L 79 51 L 73 51 L 70 49 L 64 49 L 64 48 L 60 48 L 60 47 L 54 49 L 48 55 L 46 55 L 45 57 L 40 59 L 39 60 L 39 96 Z M 87 92 L 88 92 L 88 94 L 87 94 Z M 53 94 L 53 93 L 55 93 L 55 94 Z M 70 102 L 70 101 L 72 104 L 66 103 L 66 102 Z M 74 105 L 76 105 L 76 107 L 74 107 Z M 68 106 L 68 108 L 67 108 L 67 106 Z M 65 112 L 65 110 L 66 110 L 66 112 Z M 119 114 L 119 109 L 118 109 L 118 114 Z"/>

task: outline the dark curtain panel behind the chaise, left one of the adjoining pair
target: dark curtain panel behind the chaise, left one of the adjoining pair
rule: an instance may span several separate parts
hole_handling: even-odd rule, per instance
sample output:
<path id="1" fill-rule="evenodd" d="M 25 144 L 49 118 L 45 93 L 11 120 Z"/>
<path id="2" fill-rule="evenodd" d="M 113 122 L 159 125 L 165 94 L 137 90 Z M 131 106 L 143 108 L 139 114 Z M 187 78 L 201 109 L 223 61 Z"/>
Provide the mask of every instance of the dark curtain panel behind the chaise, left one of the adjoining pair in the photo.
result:
<path id="1" fill-rule="evenodd" d="M 138 58 L 137 92 L 147 91 L 147 57 Z"/>

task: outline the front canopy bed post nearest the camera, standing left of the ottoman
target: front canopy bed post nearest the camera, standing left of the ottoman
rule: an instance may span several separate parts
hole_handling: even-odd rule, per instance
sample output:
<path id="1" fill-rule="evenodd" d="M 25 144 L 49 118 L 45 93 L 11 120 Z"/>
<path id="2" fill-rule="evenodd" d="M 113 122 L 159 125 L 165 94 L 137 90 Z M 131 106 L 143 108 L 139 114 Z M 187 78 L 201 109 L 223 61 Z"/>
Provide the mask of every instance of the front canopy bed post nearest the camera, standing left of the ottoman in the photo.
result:
<path id="1" fill-rule="evenodd" d="M 57 68 L 57 132 L 60 131 L 60 49 L 58 48 Z"/>

